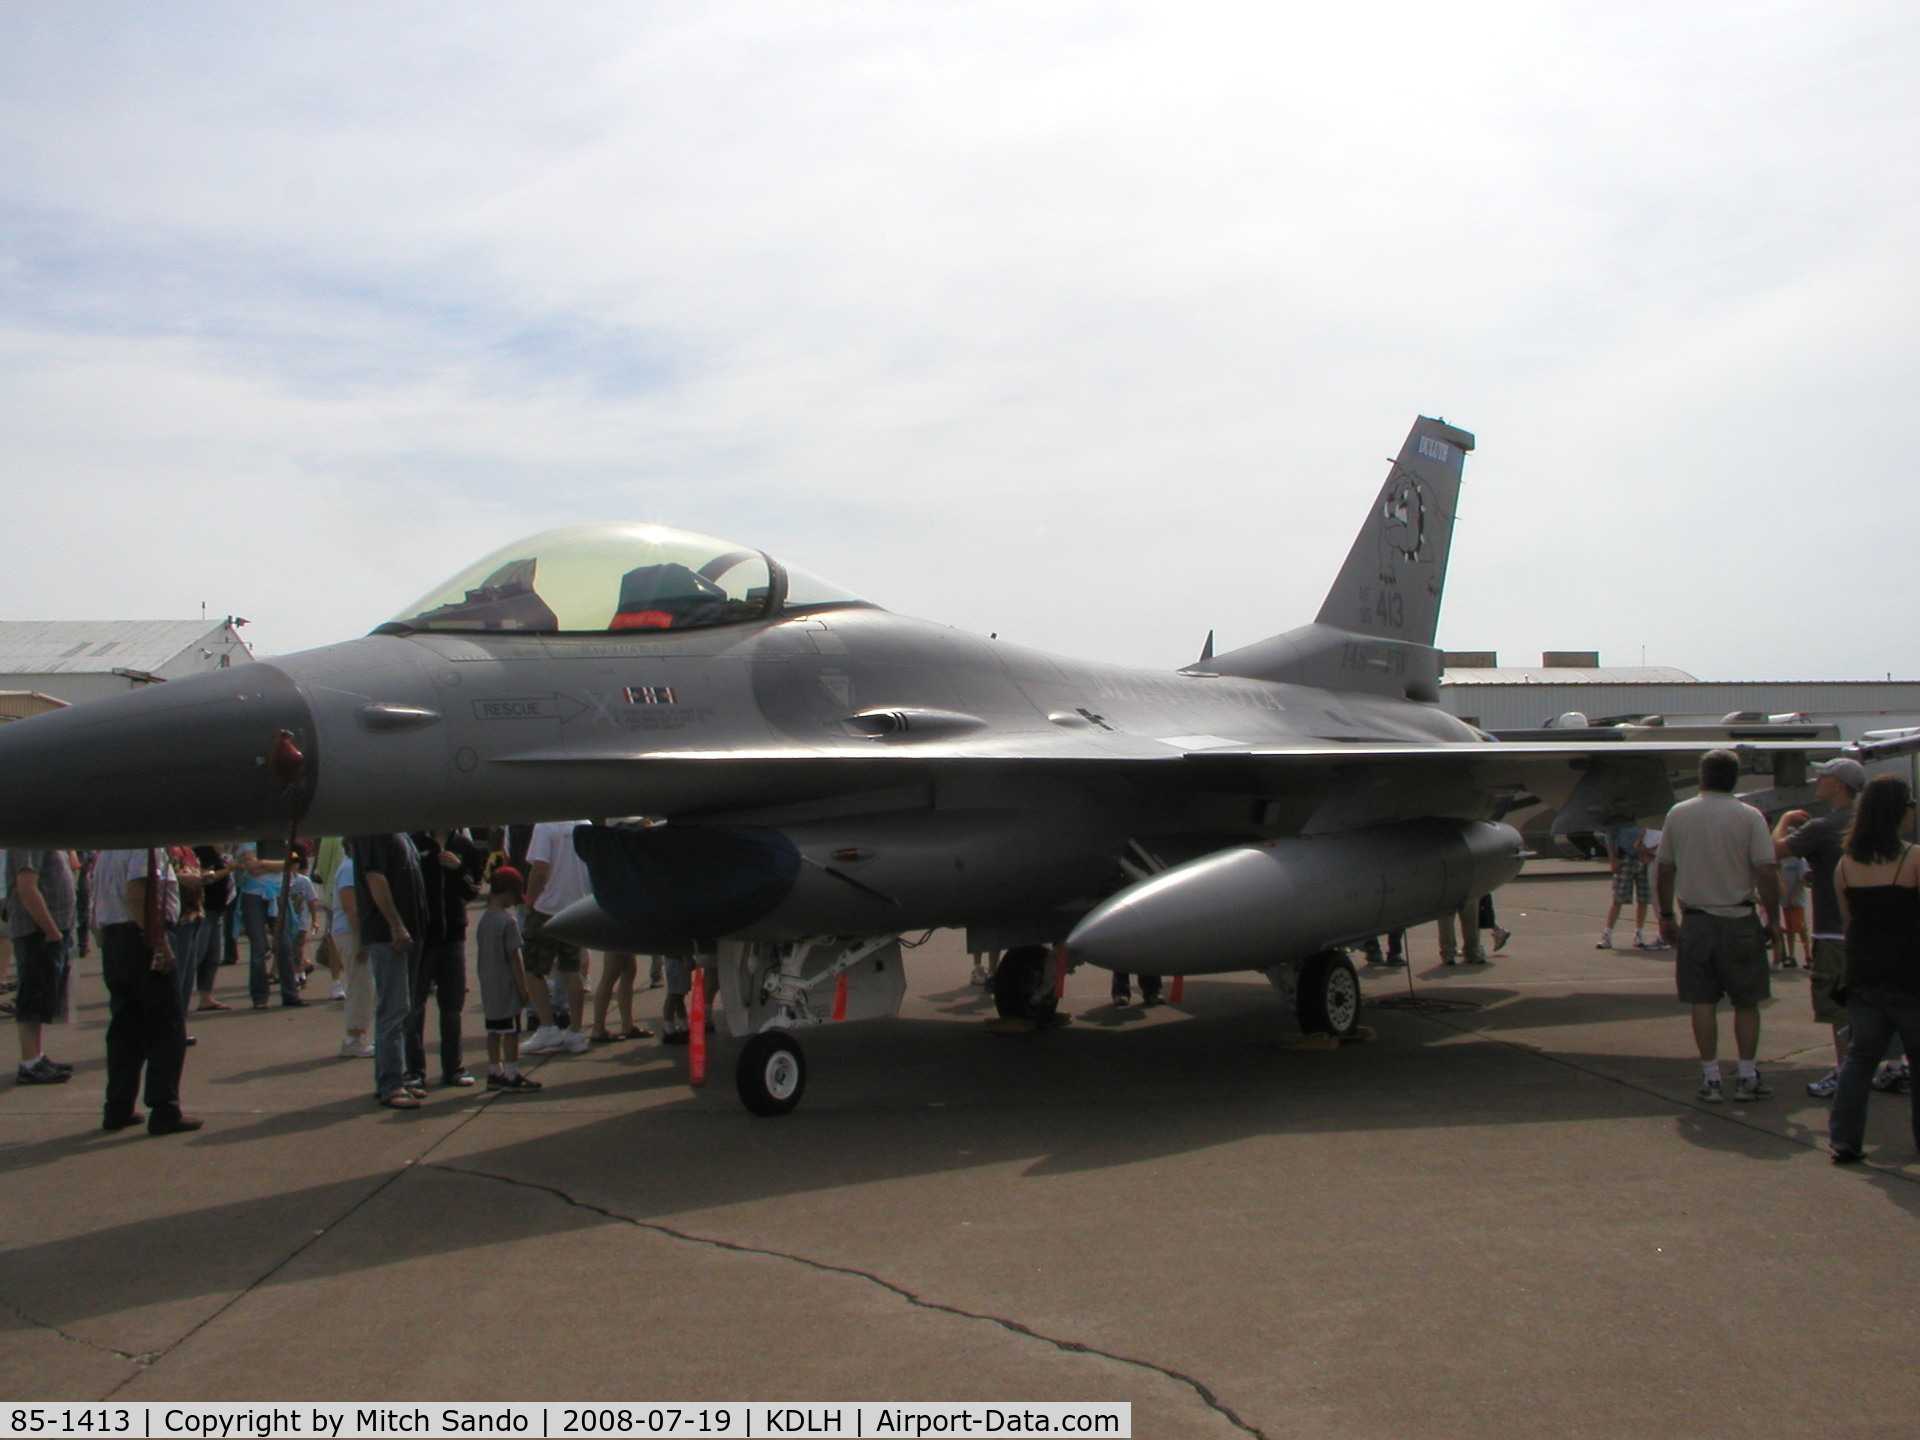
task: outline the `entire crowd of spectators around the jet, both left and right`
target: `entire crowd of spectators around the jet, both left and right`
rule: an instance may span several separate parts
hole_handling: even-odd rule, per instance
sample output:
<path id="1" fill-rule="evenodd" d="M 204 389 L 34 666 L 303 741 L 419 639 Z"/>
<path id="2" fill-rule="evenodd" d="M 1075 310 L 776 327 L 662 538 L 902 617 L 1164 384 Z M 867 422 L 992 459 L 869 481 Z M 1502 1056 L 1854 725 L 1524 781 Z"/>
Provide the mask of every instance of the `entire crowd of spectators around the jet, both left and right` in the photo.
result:
<path id="1" fill-rule="evenodd" d="M 1757 1064 L 1759 1006 L 1772 995 L 1772 973 L 1805 964 L 1812 1016 L 1834 1035 L 1834 1068 L 1807 1091 L 1832 1102 L 1832 1156 L 1851 1164 L 1862 1156 L 1868 1094 L 1908 1087 L 1907 1054 L 1920 1044 L 1920 856 L 1905 839 L 1912 789 L 1901 776 L 1868 780 L 1857 760 L 1828 760 L 1814 770 L 1824 814 L 1788 810 L 1768 828 L 1734 795 L 1738 778 L 1740 758 L 1713 751 L 1699 764 L 1699 795 L 1676 804 L 1659 829 L 1622 824 L 1607 833 L 1613 897 L 1597 948 L 1615 948 L 1615 927 L 1632 904 L 1634 948 L 1674 952 L 1705 1102 L 1726 1098 L 1722 1000 L 1734 1020 L 1734 1098 L 1772 1094 Z M 463 1060 L 468 973 L 480 989 L 490 1091 L 538 1091 L 520 1069 L 528 1054 L 653 1039 L 634 1021 L 639 958 L 605 956 L 589 1023 L 588 958 L 551 933 L 553 918 L 589 895 L 572 845 L 578 824 L 296 841 L 278 856 L 259 845 L 10 851 L 12 979 L 4 983 L 13 995 L 4 1004 L 19 1039 L 15 1083 L 71 1079 L 73 1066 L 46 1052 L 46 1027 L 65 1018 L 73 956 L 94 939 L 109 1004 L 102 1114 L 109 1131 L 200 1129 L 180 1110 L 180 1071 L 194 1043 L 186 1016 L 232 1008 L 215 996 L 215 979 L 223 964 L 238 962 L 242 937 L 255 1010 L 309 1004 L 307 983 L 324 968 L 328 998 L 344 1002 L 340 1054 L 372 1060 L 372 1096 L 392 1110 L 417 1110 L 426 1098 L 428 1008 L 438 1016 L 438 1083 L 478 1083 Z M 468 910 L 482 895 L 468 968 Z M 1657 908 L 1651 933 L 1649 906 Z M 1509 939 L 1492 897 L 1440 920 L 1442 962 L 1486 964 L 1482 931 L 1492 931 L 1496 950 Z M 1361 947 L 1367 958 L 1405 964 L 1405 933 L 1380 939 Z M 991 979 L 996 958 L 973 956 L 975 985 Z M 689 1039 L 685 996 L 699 964 L 699 956 L 651 958 L 647 983 L 666 985 L 664 1044 Z M 1131 1000 L 1129 979 L 1114 977 L 1116 1004 Z M 708 964 L 710 995 L 716 981 Z M 1139 983 L 1142 1002 L 1156 1004 L 1160 977 Z M 609 1029 L 614 1010 L 620 1027 Z M 522 1029 L 532 1031 L 524 1041 Z M 1920 1148 L 1920 1091 L 1912 1127 Z"/>

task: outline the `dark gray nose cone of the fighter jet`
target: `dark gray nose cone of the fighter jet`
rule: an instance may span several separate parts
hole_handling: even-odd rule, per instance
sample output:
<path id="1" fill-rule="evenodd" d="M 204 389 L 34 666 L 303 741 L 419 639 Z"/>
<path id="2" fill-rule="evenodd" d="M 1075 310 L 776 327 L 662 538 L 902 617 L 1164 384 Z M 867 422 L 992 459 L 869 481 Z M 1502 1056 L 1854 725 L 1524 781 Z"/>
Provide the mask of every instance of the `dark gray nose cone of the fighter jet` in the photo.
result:
<path id="1" fill-rule="evenodd" d="M 313 797 L 313 712 L 273 664 L 0 726 L 0 845 L 119 849 L 271 835 Z"/>

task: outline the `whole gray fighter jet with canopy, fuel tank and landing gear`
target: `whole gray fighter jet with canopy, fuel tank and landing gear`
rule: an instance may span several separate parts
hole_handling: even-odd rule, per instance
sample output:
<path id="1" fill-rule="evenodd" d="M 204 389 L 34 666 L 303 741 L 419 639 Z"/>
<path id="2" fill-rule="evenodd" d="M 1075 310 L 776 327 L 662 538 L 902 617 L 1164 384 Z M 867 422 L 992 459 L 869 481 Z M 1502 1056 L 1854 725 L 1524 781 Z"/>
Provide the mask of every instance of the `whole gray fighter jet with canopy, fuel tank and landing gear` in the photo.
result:
<path id="1" fill-rule="evenodd" d="M 1511 879 L 1515 797 L 1655 816 L 1709 749 L 1500 743 L 1438 707 L 1473 445 L 1419 419 L 1313 624 L 1177 672 L 912 620 L 726 540 L 549 530 L 361 639 L 6 726 L 0 843 L 666 820 L 576 831 L 593 897 L 555 933 L 716 947 L 756 1114 L 799 1104 L 793 1031 L 899 1010 L 900 937 L 933 927 L 1006 950 L 1016 1021 L 1091 962 L 1254 970 L 1304 1031 L 1350 1033 L 1342 947 Z M 1843 749 L 1743 745 L 1780 783 Z"/>

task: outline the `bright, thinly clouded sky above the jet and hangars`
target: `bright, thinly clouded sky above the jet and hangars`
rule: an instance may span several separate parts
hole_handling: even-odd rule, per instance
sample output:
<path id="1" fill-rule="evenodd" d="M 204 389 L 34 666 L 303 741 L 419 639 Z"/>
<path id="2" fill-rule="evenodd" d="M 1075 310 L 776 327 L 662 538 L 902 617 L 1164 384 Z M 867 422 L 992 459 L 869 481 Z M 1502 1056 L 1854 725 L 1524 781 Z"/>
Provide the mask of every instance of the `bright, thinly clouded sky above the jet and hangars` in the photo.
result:
<path id="1" fill-rule="evenodd" d="M 1910 4 L 0 6 L 4 618 L 588 520 L 1190 662 L 1415 415 L 1450 649 L 1920 676 Z"/>

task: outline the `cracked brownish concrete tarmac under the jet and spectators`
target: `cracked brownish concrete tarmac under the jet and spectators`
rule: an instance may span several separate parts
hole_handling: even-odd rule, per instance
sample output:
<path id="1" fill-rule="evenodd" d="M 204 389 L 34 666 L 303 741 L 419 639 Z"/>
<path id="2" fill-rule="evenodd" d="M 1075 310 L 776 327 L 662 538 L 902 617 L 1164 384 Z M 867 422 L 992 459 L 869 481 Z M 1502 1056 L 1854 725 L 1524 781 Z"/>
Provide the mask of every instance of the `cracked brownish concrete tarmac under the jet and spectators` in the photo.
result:
<path id="1" fill-rule="evenodd" d="M 960 937 L 895 1021 L 810 1031 L 756 1119 L 651 1041 L 545 1091 L 371 1100 L 340 1006 L 190 1029 L 198 1135 L 102 1133 L 98 958 L 0 1087 L 8 1400 L 1129 1400 L 1137 1436 L 1893 1436 L 1920 1402 L 1920 1164 L 1876 1096 L 1836 1169 L 1803 972 L 1772 1100 L 1709 1106 L 1672 964 L 1596 950 L 1603 870 L 1498 897 L 1486 968 L 1361 972 L 1292 1048 L 1252 975 L 985 1029 Z M 1620 939 L 1628 939 L 1630 925 Z M 324 981 L 324 973 L 317 977 Z M 1405 995 L 1444 1010 L 1390 1008 Z M 324 995 L 324 989 L 319 991 Z M 645 993 L 643 1018 L 660 991 Z M 1452 1008 L 1459 1006 L 1459 1008 Z M 468 1064 L 484 1069 L 468 1008 Z M 1728 1052 L 1730 1052 L 1728 1041 Z M 1732 1064 L 1726 1066 L 1732 1071 Z"/>

